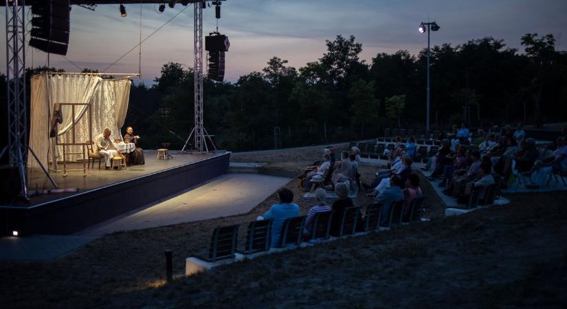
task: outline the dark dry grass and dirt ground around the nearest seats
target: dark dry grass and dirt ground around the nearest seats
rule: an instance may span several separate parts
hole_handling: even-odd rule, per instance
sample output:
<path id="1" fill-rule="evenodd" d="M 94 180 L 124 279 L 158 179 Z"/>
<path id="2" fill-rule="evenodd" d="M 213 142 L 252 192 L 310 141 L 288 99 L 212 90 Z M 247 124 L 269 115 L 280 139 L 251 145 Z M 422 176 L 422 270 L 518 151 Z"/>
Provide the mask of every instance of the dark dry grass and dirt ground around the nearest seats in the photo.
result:
<path id="1" fill-rule="evenodd" d="M 346 147 L 346 146 L 345 146 Z M 299 173 L 321 148 L 233 154 Z M 363 181 L 374 167 L 363 165 Z M 306 213 L 298 179 L 287 187 Z M 1 262 L 2 308 L 562 308 L 567 304 L 567 193 L 516 194 L 511 204 L 443 217 L 427 181 L 430 222 L 346 238 L 221 266 L 165 284 L 203 252 L 219 225 L 254 220 L 269 196 L 242 216 L 112 233 L 51 262 Z M 359 194 L 356 205 L 370 199 Z M 241 230 L 243 231 L 243 229 Z M 243 234 L 242 232 L 241 234 Z"/>

